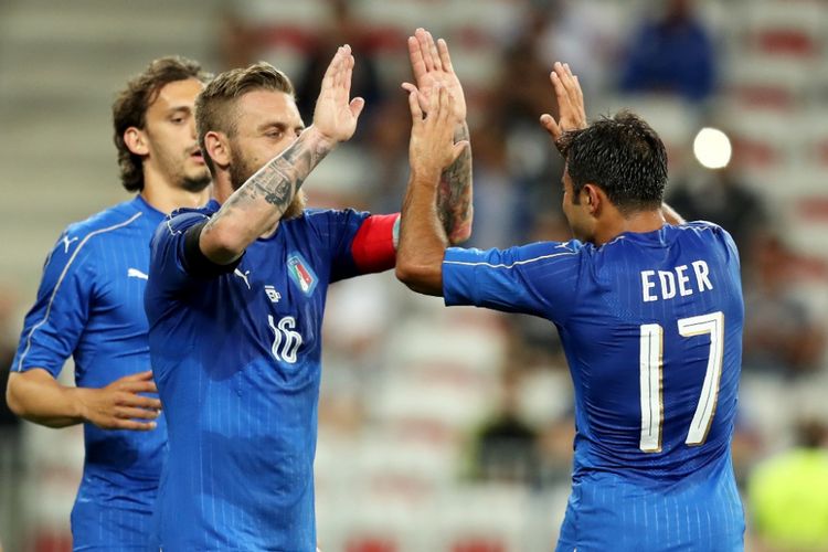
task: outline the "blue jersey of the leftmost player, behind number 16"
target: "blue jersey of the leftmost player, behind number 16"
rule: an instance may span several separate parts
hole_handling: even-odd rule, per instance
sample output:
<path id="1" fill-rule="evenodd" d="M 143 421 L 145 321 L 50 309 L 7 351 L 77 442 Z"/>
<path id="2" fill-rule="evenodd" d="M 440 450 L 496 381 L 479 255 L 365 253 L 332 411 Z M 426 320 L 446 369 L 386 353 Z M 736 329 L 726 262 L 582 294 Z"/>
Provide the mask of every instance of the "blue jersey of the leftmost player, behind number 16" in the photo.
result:
<path id="1" fill-rule="evenodd" d="M 76 384 L 103 388 L 150 369 L 144 288 L 163 219 L 139 195 L 66 229 L 46 258 L 12 371 L 57 376 L 72 355 Z M 74 550 L 146 549 L 167 440 L 163 415 L 157 423 L 151 432 L 84 425 Z"/>

